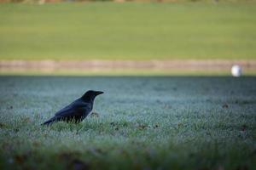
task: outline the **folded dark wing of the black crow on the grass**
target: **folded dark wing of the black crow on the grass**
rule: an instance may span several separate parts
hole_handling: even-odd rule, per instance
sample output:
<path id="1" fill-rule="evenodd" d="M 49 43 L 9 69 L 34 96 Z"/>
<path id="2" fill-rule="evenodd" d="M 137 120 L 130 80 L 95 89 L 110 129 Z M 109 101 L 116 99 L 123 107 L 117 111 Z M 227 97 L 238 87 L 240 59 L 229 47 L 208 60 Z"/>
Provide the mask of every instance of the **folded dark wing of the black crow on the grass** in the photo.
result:
<path id="1" fill-rule="evenodd" d="M 63 116 L 81 116 L 84 111 L 90 111 L 90 106 L 80 100 L 75 100 L 72 104 L 67 105 L 55 113 L 55 117 Z"/>

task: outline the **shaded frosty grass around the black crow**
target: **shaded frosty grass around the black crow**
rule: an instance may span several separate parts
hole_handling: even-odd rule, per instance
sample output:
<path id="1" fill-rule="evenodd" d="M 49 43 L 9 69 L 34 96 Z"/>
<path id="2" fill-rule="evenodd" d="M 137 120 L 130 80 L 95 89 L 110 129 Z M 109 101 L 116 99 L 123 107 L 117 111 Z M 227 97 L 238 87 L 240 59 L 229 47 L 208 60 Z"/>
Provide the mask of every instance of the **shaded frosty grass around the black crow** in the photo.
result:
<path id="1" fill-rule="evenodd" d="M 255 77 L 0 77 L 1 169 L 253 169 Z M 87 89 L 80 124 L 40 123 Z M 254 160 L 254 161 L 253 161 Z"/>

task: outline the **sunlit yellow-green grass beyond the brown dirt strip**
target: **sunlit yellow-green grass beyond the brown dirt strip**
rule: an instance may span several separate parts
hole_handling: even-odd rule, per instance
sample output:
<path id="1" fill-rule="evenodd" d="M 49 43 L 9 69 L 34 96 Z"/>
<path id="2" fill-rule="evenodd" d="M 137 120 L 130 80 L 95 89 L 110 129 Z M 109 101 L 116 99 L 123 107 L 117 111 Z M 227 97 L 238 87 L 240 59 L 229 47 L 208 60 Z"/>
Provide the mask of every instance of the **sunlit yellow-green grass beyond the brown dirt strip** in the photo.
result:
<path id="1" fill-rule="evenodd" d="M 256 3 L 0 5 L 0 59 L 255 59 Z"/>

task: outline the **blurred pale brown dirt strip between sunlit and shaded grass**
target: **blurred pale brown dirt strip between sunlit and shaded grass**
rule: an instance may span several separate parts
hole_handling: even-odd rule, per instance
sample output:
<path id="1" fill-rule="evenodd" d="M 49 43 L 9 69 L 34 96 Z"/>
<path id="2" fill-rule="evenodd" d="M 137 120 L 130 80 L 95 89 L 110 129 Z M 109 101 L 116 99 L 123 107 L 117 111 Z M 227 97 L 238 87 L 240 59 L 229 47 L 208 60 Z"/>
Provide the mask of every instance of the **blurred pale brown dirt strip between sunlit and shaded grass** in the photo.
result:
<path id="1" fill-rule="evenodd" d="M 172 59 L 172 60 L 0 60 L 2 71 L 230 71 L 241 65 L 256 72 L 256 59 Z"/>

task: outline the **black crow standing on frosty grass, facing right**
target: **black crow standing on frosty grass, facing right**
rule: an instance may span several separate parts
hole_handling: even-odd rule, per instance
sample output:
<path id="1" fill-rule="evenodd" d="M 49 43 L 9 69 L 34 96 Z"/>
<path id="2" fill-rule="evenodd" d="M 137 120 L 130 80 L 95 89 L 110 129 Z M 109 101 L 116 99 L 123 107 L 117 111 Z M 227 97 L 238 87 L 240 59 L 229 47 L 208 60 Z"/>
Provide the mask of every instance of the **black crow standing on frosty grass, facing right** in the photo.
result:
<path id="1" fill-rule="evenodd" d="M 67 105 L 60 111 L 55 113 L 55 116 L 44 122 L 42 125 L 50 125 L 53 122 L 82 122 L 93 109 L 94 99 L 97 95 L 104 94 L 102 91 L 87 91 L 82 97 L 74 100 L 70 105 Z"/>

